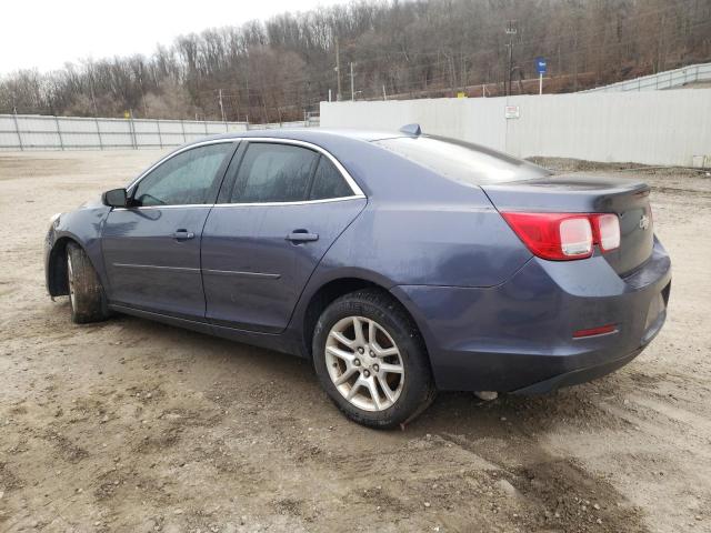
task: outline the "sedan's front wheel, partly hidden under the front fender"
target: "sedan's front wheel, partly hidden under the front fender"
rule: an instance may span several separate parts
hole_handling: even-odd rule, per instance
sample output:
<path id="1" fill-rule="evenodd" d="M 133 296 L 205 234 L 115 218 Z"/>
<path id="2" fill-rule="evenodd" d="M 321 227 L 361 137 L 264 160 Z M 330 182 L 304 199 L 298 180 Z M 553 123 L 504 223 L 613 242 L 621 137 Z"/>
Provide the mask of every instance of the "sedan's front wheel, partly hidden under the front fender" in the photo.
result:
<path id="1" fill-rule="evenodd" d="M 67 244 L 67 286 L 71 321 L 76 324 L 99 322 L 109 318 L 107 299 L 87 252 L 78 244 Z"/>

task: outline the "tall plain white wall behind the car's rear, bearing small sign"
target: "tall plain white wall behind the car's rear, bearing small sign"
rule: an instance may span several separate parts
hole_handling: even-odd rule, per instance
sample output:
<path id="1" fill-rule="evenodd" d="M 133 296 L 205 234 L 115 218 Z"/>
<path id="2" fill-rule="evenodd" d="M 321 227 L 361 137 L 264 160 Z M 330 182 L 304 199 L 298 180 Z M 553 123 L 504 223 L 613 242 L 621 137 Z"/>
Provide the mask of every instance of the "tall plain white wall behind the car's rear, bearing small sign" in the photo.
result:
<path id="1" fill-rule="evenodd" d="M 321 103 L 324 128 L 411 122 L 519 158 L 711 167 L 711 89 Z"/>

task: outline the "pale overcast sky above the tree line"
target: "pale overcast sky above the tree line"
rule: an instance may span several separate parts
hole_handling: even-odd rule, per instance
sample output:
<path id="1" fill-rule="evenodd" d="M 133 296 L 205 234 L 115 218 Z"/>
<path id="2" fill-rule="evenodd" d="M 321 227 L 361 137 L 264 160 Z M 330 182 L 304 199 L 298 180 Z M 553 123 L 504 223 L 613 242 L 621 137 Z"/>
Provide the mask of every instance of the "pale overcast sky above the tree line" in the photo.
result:
<path id="1" fill-rule="evenodd" d="M 346 0 L 2 0 L 0 74 L 80 59 L 150 54 L 181 33 Z"/>

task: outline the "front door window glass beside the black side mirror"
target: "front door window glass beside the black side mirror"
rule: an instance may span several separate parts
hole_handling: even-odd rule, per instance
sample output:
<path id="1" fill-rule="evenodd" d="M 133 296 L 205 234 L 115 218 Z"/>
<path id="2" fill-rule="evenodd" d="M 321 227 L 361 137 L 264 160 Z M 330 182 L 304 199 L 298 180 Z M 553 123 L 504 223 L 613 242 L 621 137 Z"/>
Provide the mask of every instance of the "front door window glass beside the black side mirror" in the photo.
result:
<path id="1" fill-rule="evenodd" d="M 143 178 L 133 194 L 136 207 L 210 203 L 220 169 L 234 144 L 220 142 L 179 153 Z"/>

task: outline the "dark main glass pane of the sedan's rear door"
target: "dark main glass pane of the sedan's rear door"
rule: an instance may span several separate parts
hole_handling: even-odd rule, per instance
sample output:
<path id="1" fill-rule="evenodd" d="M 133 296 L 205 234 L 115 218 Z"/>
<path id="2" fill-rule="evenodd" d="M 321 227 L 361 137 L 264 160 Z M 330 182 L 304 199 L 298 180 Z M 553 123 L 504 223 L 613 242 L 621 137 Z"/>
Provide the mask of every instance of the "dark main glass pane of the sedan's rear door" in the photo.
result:
<path id="1" fill-rule="evenodd" d="M 296 202 L 306 199 L 319 154 L 307 148 L 250 143 L 237 174 L 231 203 Z"/>

